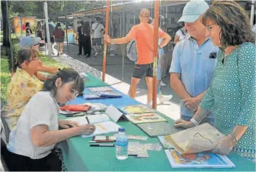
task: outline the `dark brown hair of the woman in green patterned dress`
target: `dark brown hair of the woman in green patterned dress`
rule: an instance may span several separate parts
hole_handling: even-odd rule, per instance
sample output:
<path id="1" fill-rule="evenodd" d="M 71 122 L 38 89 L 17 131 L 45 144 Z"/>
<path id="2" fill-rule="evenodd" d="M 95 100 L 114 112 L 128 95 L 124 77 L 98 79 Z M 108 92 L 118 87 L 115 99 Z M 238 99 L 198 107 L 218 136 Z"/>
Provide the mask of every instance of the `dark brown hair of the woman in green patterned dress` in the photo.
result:
<path id="1" fill-rule="evenodd" d="M 235 1 L 214 1 L 203 14 L 202 22 L 210 19 L 219 25 L 221 47 L 240 45 L 244 42 L 255 42 L 255 33 L 250 25 L 246 11 Z"/>

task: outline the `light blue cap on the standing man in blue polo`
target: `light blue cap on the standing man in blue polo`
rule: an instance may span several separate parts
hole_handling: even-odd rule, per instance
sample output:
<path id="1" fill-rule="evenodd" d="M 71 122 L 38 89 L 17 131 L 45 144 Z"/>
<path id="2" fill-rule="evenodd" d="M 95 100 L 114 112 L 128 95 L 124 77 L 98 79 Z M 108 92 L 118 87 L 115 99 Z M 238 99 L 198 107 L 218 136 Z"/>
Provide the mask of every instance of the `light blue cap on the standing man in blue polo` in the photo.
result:
<path id="1" fill-rule="evenodd" d="M 204 0 L 191 0 L 186 3 L 183 9 L 182 16 L 178 22 L 194 22 L 201 14 L 204 14 L 208 10 L 209 6 Z"/>

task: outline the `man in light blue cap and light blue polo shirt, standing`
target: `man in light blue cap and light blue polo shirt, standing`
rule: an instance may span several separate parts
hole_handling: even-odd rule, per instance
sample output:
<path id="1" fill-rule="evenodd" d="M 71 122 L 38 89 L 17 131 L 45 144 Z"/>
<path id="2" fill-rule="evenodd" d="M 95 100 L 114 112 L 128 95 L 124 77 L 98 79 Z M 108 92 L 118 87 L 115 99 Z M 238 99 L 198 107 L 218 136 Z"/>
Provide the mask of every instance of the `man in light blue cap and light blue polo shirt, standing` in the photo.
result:
<path id="1" fill-rule="evenodd" d="M 181 99 L 182 120 L 189 121 L 193 117 L 215 71 L 219 49 L 213 45 L 208 30 L 201 23 L 201 14 L 208 8 L 204 0 L 191 0 L 186 3 L 178 21 L 184 21 L 190 34 L 189 38 L 175 45 L 169 71 L 170 86 Z M 213 113 L 202 122 L 213 125 Z"/>

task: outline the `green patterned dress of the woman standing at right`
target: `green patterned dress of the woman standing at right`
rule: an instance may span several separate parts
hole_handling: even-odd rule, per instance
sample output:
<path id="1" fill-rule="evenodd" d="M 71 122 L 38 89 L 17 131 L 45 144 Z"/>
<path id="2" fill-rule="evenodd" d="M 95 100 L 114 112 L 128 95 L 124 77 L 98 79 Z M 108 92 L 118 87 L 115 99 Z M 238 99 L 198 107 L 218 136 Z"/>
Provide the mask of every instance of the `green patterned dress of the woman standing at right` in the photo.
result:
<path id="1" fill-rule="evenodd" d="M 243 43 L 224 58 L 219 51 L 213 80 L 200 107 L 213 111 L 215 127 L 228 135 L 236 125 L 248 126 L 234 151 L 255 162 L 256 47 Z"/>

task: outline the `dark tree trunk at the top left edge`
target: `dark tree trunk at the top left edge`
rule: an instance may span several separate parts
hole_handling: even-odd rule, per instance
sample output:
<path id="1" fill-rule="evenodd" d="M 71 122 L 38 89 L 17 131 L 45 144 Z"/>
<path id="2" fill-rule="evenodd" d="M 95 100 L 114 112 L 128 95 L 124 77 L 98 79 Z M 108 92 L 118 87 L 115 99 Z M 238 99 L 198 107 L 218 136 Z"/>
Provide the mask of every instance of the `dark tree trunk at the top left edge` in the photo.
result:
<path id="1" fill-rule="evenodd" d="M 1 1 L 1 11 L 3 17 L 3 47 L 10 47 L 7 7 L 8 1 Z"/>

